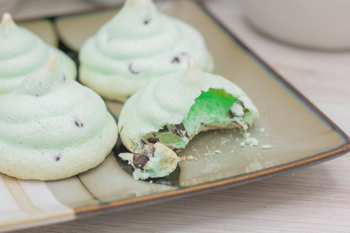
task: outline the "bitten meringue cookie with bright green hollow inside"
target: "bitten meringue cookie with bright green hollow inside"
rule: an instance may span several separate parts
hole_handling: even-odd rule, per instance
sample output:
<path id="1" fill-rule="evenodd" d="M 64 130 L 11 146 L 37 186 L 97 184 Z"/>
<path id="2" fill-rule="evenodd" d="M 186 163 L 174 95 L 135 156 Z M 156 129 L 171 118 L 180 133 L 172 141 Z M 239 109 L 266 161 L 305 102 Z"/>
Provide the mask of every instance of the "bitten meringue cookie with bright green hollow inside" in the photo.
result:
<path id="1" fill-rule="evenodd" d="M 121 110 L 118 128 L 128 150 L 151 160 L 149 148 L 154 151 L 155 143 L 184 148 L 201 131 L 239 127 L 245 132 L 257 117 L 257 108 L 243 90 L 201 71 L 190 58 L 185 73 L 160 77 L 131 96 Z M 135 177 L 138 172 L 134 178 L 144 179 L 147 169 Z"/>

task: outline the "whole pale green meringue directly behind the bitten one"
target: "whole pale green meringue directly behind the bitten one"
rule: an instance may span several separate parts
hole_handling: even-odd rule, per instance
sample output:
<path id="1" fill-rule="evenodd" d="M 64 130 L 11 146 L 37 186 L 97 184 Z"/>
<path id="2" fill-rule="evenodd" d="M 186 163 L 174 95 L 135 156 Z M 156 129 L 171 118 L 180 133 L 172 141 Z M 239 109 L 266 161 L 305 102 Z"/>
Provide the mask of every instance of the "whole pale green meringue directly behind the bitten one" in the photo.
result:
<path id="1" fill-rule="evenodd" d="M 126 0 L 83 44 L 79 80 L 102 97 L 124 102 L 151 80 L 185 71 L 190 57 L 203 71 L 214 70 L 197 29 L 159 13 L 152 0 Z"/>

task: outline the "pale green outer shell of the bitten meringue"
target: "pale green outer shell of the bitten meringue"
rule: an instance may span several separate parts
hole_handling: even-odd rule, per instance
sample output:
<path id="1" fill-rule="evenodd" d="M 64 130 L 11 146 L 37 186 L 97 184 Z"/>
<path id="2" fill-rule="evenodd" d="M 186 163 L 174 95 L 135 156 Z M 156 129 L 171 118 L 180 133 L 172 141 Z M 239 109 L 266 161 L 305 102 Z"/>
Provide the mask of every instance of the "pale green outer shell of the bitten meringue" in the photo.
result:
<path id="1" fill-rule="evenodd" d="M 195 118 L 185 121 L 190 111 L 195 112 L 194 116 L 196 114 L 202 114 L 202 116 L 205 114 L 205 112 L 200 113 L 191 107 L 203 92 L 208 92 L 210 89 L 223 90 L 224 94 L 226 93 L 226 95 L 229 94 L 233 97 L 231 107 L 226 103 L 227 109 L 225 116 L 222 117 L 222 122 L 216 120 L 219 118 L 215 115 L 215 109 L 210 110 L 212 117 L 205 117 L 209 119 L 208 125 L 206 125 L 206 122 L 204 122 L 204 125 L 201 125 L 201 122 Z M 211 99 L 210 101 L 212 102 Z M 205 101 L 201 102 L 205 104 Z M 237 103 L 241 103 L 243 108 L 238 108 L 236 106 Z M 208 104 L 207 106 L 213 106 L 213 104 Z M 229 117 L 229 110 L 233 115 L 232 117 Z M 220 110 L 220 112 L 223 111 Z M 200 118 L 201 115 L 197 115 L 197 117 Z M 139 150 L 142 142 L 153 145 L 148 140 L 149 137 L 152 137 L 152 135 L 158 136 L 159 130 L 166 133 L 175 132 L 177 130 L 176 127 L 173 130 L 169 129 L 171 125 L 182 124 L 182 127 L 184 126 L 184 129 L 179 128 L 177 132 L 177 135 L 183 135 L 180 137 L 183 141 L 173 146 L 167 146 L 169 148 L 184 148 L 188 140 L 200 131 L 234 127 L 241 127 L 243 130 L 246 130 L 257 117 L 257 108 L 243 90 L 219 75 L 201 71 L 195 60 L 190 58 L 188 60 L 188 69 L 185 73 L 178 72 L 160 77 L 131 96 L 121 110 L 118 127 L 120 138 L 128 150 L 142 153 Z M 228 121 L 229 119 L 230 121 Z M 163 130 L 165 125 L 168 125 L 166 131 Z M 186 132 L 190 131 L 195 132 L 195 134 L 185 136 Z M 177 135 L 173 133 L 173 136 L 178 137 Z M 160 138 L 159 141 L 161 141 Z"/>

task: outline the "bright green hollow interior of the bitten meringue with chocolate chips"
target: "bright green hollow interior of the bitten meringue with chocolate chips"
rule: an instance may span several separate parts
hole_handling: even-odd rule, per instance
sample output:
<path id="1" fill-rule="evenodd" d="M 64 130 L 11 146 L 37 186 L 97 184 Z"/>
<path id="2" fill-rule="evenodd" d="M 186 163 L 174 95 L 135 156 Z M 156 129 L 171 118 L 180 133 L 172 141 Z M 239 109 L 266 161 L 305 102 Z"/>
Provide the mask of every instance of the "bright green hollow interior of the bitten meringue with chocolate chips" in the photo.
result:
<path id="1" fill-rule="evenodd" d="M 239 105 L 241 114 L 236 115 L 230 109 Z M 186 118 L 181 124 L 167 124 L 158 132 L 148 133 L 143 141 L 152 145 L 159 142 L 171 149 L 184 148 L 189 140 L 201 131 L 220 128 L 237 128 L 244 123 L 248 115 L 240 101 L 222 89 L 210 88 L 202 92 L 191 106 Z M 242 128 L 243 129 L 243 128 Z"/>

